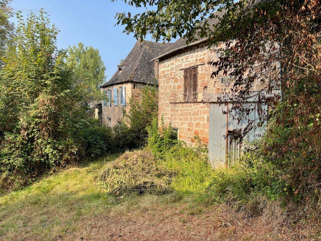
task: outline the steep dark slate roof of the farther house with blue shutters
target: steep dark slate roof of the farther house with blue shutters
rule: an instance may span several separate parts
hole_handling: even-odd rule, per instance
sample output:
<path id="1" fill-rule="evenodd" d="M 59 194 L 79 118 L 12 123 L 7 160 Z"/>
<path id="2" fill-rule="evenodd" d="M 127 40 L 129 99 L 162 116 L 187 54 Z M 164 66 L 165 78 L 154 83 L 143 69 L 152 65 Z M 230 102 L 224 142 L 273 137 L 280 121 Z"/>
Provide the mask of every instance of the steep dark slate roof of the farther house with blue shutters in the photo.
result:
<path id="1" fill-rule="evenodd" d="M 154 63 L 150 60 L 163 53 L 170 45 L 172 43 L 155 43 L 146 40 L 143 42 L 137 41 L 124 62 L 117 66 L 118 70 L 116 73 L 108 82 L 100 87 L 127 81 L 158 85 L 155 79 Z"/>

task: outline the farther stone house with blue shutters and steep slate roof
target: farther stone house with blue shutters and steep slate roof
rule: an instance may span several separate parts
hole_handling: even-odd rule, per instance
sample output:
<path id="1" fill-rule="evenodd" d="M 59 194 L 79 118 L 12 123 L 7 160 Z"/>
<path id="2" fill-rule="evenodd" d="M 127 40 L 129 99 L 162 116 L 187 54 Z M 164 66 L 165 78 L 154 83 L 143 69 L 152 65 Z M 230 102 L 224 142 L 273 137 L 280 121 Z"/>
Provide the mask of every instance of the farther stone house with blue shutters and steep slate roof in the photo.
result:
<path id="1" fill-rule="evenodd" d="M 103 100 L 96 108 L 96 118 L 101 118 L 103 125 L 113 127 L 121 123 L 124 113 L 129 111 L 129 98 L 139 99 L 141 90 L 147 84 L 158 85 L 154 62 L 150 60 L 170 45 L 152 41 L 136 42 L 123 63 L 117 66 L 116 73 L 100 86 L 108 96 L 108 100 Z"/>

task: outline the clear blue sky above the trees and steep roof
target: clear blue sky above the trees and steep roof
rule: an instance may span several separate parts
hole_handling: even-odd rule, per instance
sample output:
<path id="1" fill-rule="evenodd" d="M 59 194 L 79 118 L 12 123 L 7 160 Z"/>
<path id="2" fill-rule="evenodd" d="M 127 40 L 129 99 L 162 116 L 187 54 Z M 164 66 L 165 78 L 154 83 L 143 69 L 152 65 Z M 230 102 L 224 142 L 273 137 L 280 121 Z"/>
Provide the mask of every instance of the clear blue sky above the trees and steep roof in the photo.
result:
<path id="1" fill-rule="evenodd" d="M 85 46 L 99 49 L 106 66 L 107 80 L 117 70 L 120 59 L 124 59 L 134 46 L 133 34 L 123 33 L 123 26 L 114 26 L 117 12 L 138 13 L 135 7 L 123 1 L 110 0 L 13 0 L 13 11 L 22 11 L 26 16 L 30 11 L 37 13 L 44 8 L 52 23 L 60 30 L 57 45 L 65 49 L 69 45 L 83 42 Z M 12 18 L 16 22 L 15 17 Z M 146 40 L 152 40 L 151 37 Z"/>

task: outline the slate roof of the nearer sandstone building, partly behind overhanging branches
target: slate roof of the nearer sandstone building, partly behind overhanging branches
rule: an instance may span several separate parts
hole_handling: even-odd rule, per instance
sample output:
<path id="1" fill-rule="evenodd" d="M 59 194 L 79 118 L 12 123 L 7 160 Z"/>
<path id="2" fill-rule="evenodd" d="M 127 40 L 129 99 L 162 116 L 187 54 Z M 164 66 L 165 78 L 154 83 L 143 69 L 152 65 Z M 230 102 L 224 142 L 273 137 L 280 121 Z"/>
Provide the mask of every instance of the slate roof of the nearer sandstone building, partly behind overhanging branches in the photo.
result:
<path id="1" fill-rule="evenodd" d="M 213 26 L 215 24 L 217 24 L 219 22 L 219 18 L 221 16 L 223 16 L 225 13 L 225 11 L 221 11 L 221 12 L 216 12 L 215 15 L 218 17 L 218 18 L 212 18 L 212 19 L 208 19 L 208 24 L 210 26 Z M 155 58 L 152 58 L 151 61 L 155 60 L 155 59 L 159 59 L 161 57 L 164 57 L 168 54 L 171 54 L 171 53 L 174 53 L 174 52 L 177 52 L 178 50 L 182 50 L 182 49 L 185 49 L 187 47 L 190 47 L 190 46 L 194 46 L 194 45 L 197 45 L 199 43 L 202 43 L 204 41 L 206 41 L 208 38 L 207 37 L 200 37 L 198 33 L 195 34 L 195 41 L 192 42 L 192 43 L 189 43 L 188 46 L 186 44 L 186 38 L 181 37 L 180 39 L 178 39 L 175 43 L 173 43 L 172 45 L 170 45 L 167 49 L 165 49 L 165 51 L 163 53 L 161 53 L 159 56 L 155 57 Z"/>

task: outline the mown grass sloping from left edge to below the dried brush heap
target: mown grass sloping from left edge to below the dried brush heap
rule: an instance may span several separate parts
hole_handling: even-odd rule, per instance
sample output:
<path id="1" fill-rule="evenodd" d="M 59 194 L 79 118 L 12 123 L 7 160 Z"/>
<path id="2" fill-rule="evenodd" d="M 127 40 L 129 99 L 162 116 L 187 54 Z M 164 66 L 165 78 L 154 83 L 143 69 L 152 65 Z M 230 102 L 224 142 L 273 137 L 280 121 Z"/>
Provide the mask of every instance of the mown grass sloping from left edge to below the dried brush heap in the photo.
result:
<path id="1" fill-rule="evenodd" d="M 187 214 L 197 208 L 198 193 L 127 195 L 116 198 L 99 188 L 95 177 L 119 154 L 100 158 L 80 167 L 69 167 L 44 177 L 22 190 L 0 196 L 0 240 L 55 240 L 79 231 L 86 219 L 107 215 L 140 214 L 161 205 L 187 205 Z"/>

